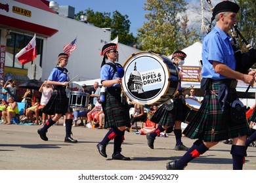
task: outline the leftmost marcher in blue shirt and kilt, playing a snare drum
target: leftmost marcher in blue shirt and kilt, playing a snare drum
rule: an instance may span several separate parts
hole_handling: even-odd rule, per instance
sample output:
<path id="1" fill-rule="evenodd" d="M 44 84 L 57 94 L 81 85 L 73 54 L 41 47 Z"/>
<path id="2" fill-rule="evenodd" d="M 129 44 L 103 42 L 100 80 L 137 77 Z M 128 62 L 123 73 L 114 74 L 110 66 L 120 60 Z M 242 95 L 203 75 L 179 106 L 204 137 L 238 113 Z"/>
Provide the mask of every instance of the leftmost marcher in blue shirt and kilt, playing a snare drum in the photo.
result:
<path id="1" fill-rule="evenodd" d="M 47 84 L 54 86 L 54 91 L 49 99 L 47 105 L 43 108 L 45 114 L 54 115 L 52 118 L 48 119 L 45 122 L 45 125 L 37 130 L 37 133 L 40 135 L 43 141 L 48 141 L 46 136 L 47 129 L 54 125 L 62 115 L 66 116 L 66 137 L 64 142 L 76 143 L 77 141 L 72 139 L 72 108 L 68 105 L 67 97 L 67 86 L 69 84 L 68 80 L 68 70 L 65 68 L 68 65 L 68 54 L 61 53 L 58 55 L 57 67 L 54 67 L 51 72 Z"/>

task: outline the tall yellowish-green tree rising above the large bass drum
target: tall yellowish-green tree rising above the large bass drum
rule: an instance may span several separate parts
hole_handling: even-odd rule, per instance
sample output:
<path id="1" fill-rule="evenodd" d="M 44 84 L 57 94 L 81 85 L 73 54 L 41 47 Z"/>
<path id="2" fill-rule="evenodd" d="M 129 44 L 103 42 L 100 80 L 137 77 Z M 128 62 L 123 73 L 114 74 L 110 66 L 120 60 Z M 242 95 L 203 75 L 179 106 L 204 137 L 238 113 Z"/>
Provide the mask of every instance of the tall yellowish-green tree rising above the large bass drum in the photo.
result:
<path id="1" fill-rule="evenodd" d="M 194 29 L 188 29 L 187 3 L 183 0 L 147 0 L 144 4 L 148 22 L 138 29 L 139 48 L 163 55 L 199 41 Z"/>

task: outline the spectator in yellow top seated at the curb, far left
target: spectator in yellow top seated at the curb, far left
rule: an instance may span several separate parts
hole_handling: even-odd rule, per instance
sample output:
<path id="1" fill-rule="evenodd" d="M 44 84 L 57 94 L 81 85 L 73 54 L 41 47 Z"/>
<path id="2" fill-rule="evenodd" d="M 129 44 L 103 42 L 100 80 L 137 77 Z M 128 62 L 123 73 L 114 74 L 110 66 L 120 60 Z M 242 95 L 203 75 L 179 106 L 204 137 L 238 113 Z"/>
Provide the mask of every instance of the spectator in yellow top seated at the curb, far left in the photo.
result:
<path id="1" fill-rule="evenodd" d="M 18 111 L 18 104 L 14 101 L 13 97 L 9 97 L 9 104 L 7 107 L 7 111 L 2 112 L 3 116 L 3 124 L 11 125 L 11 120 L 16 114 L 20 114 Z M 8 117 L 8 122 L 7 122 L 7 117 Z"/>

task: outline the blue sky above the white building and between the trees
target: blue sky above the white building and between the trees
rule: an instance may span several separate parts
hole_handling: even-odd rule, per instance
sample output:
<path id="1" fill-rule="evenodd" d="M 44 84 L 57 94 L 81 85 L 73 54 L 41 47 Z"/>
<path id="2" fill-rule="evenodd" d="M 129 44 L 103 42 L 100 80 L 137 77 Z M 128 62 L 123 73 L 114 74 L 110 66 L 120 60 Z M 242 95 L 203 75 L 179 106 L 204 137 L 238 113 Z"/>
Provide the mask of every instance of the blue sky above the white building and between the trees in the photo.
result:
<path id="1" fill-rule="evenodd" d="M 130 20 L 130 32 L 133 33 L 134 36 L 137 35 L 137 29 L 142 27 L 144 22 L 146 22 L 146 18 L 144 15 L 146 14 L 146 10 L 144 10 L 144 2 L 146 0 L 55 0 L 56 3 L 60 6 L 70 5 L 75 8 L 75 14 L 79 11 L 84 11 L 88 8 L 91 8 L 94 12 L 114 12 L 117 10 L 122 15 L 127 14 L 128 20 Z M 190 18 L 191 24 L 194 22 L 200 22 L 200 0 L 186 0 L 190 8 L 190 12 L 188 12 L 188 17 Z M 206 0 L 203 0 L 206 1 Z M 211 3 L 213 6 L 217 5 L 217 3 L 222 0 L 212 0 Z M 197 12 L 194 7 L 198 7 Z M 189 23 L 190 23 L 189 22 Z M 200 24 L 201 25 L 201 24 Z M 198 26 L 197 26 L 198 27 Z"/>

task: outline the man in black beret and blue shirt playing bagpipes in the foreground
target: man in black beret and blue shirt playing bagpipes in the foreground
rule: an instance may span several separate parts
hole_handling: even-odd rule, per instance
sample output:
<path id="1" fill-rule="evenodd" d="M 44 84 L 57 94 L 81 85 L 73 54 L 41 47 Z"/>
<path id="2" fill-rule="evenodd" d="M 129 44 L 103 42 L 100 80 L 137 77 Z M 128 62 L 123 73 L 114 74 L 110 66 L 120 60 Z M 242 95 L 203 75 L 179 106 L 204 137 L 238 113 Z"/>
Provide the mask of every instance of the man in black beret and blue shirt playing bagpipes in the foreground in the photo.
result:
<path id="1" fill-rule="evenodd" d="M 236 93 L 237 80 L 253 86 L 255 71 L 249 72 L 248 75 L 235 71 L 236 59 L 228 31 L 236 23 L 239 9 L 236 3 L 223 1 L 213 10 L 216 25 L 203 39 L 202 48 L 201 87 L 205 91 L 203 103 L 183 131 L 186 137 L 198 140 L 181 159 L 167 163 L 167 169 L 184 169 L 192 159 L 226 139 L 233 139 L 230 151 L 233 169 L 243 168 L 246 156 L 245 139 L 249 135 L 249 127 L 245 112 L 233 113 L 230 104 L 239 103 Z"/>

